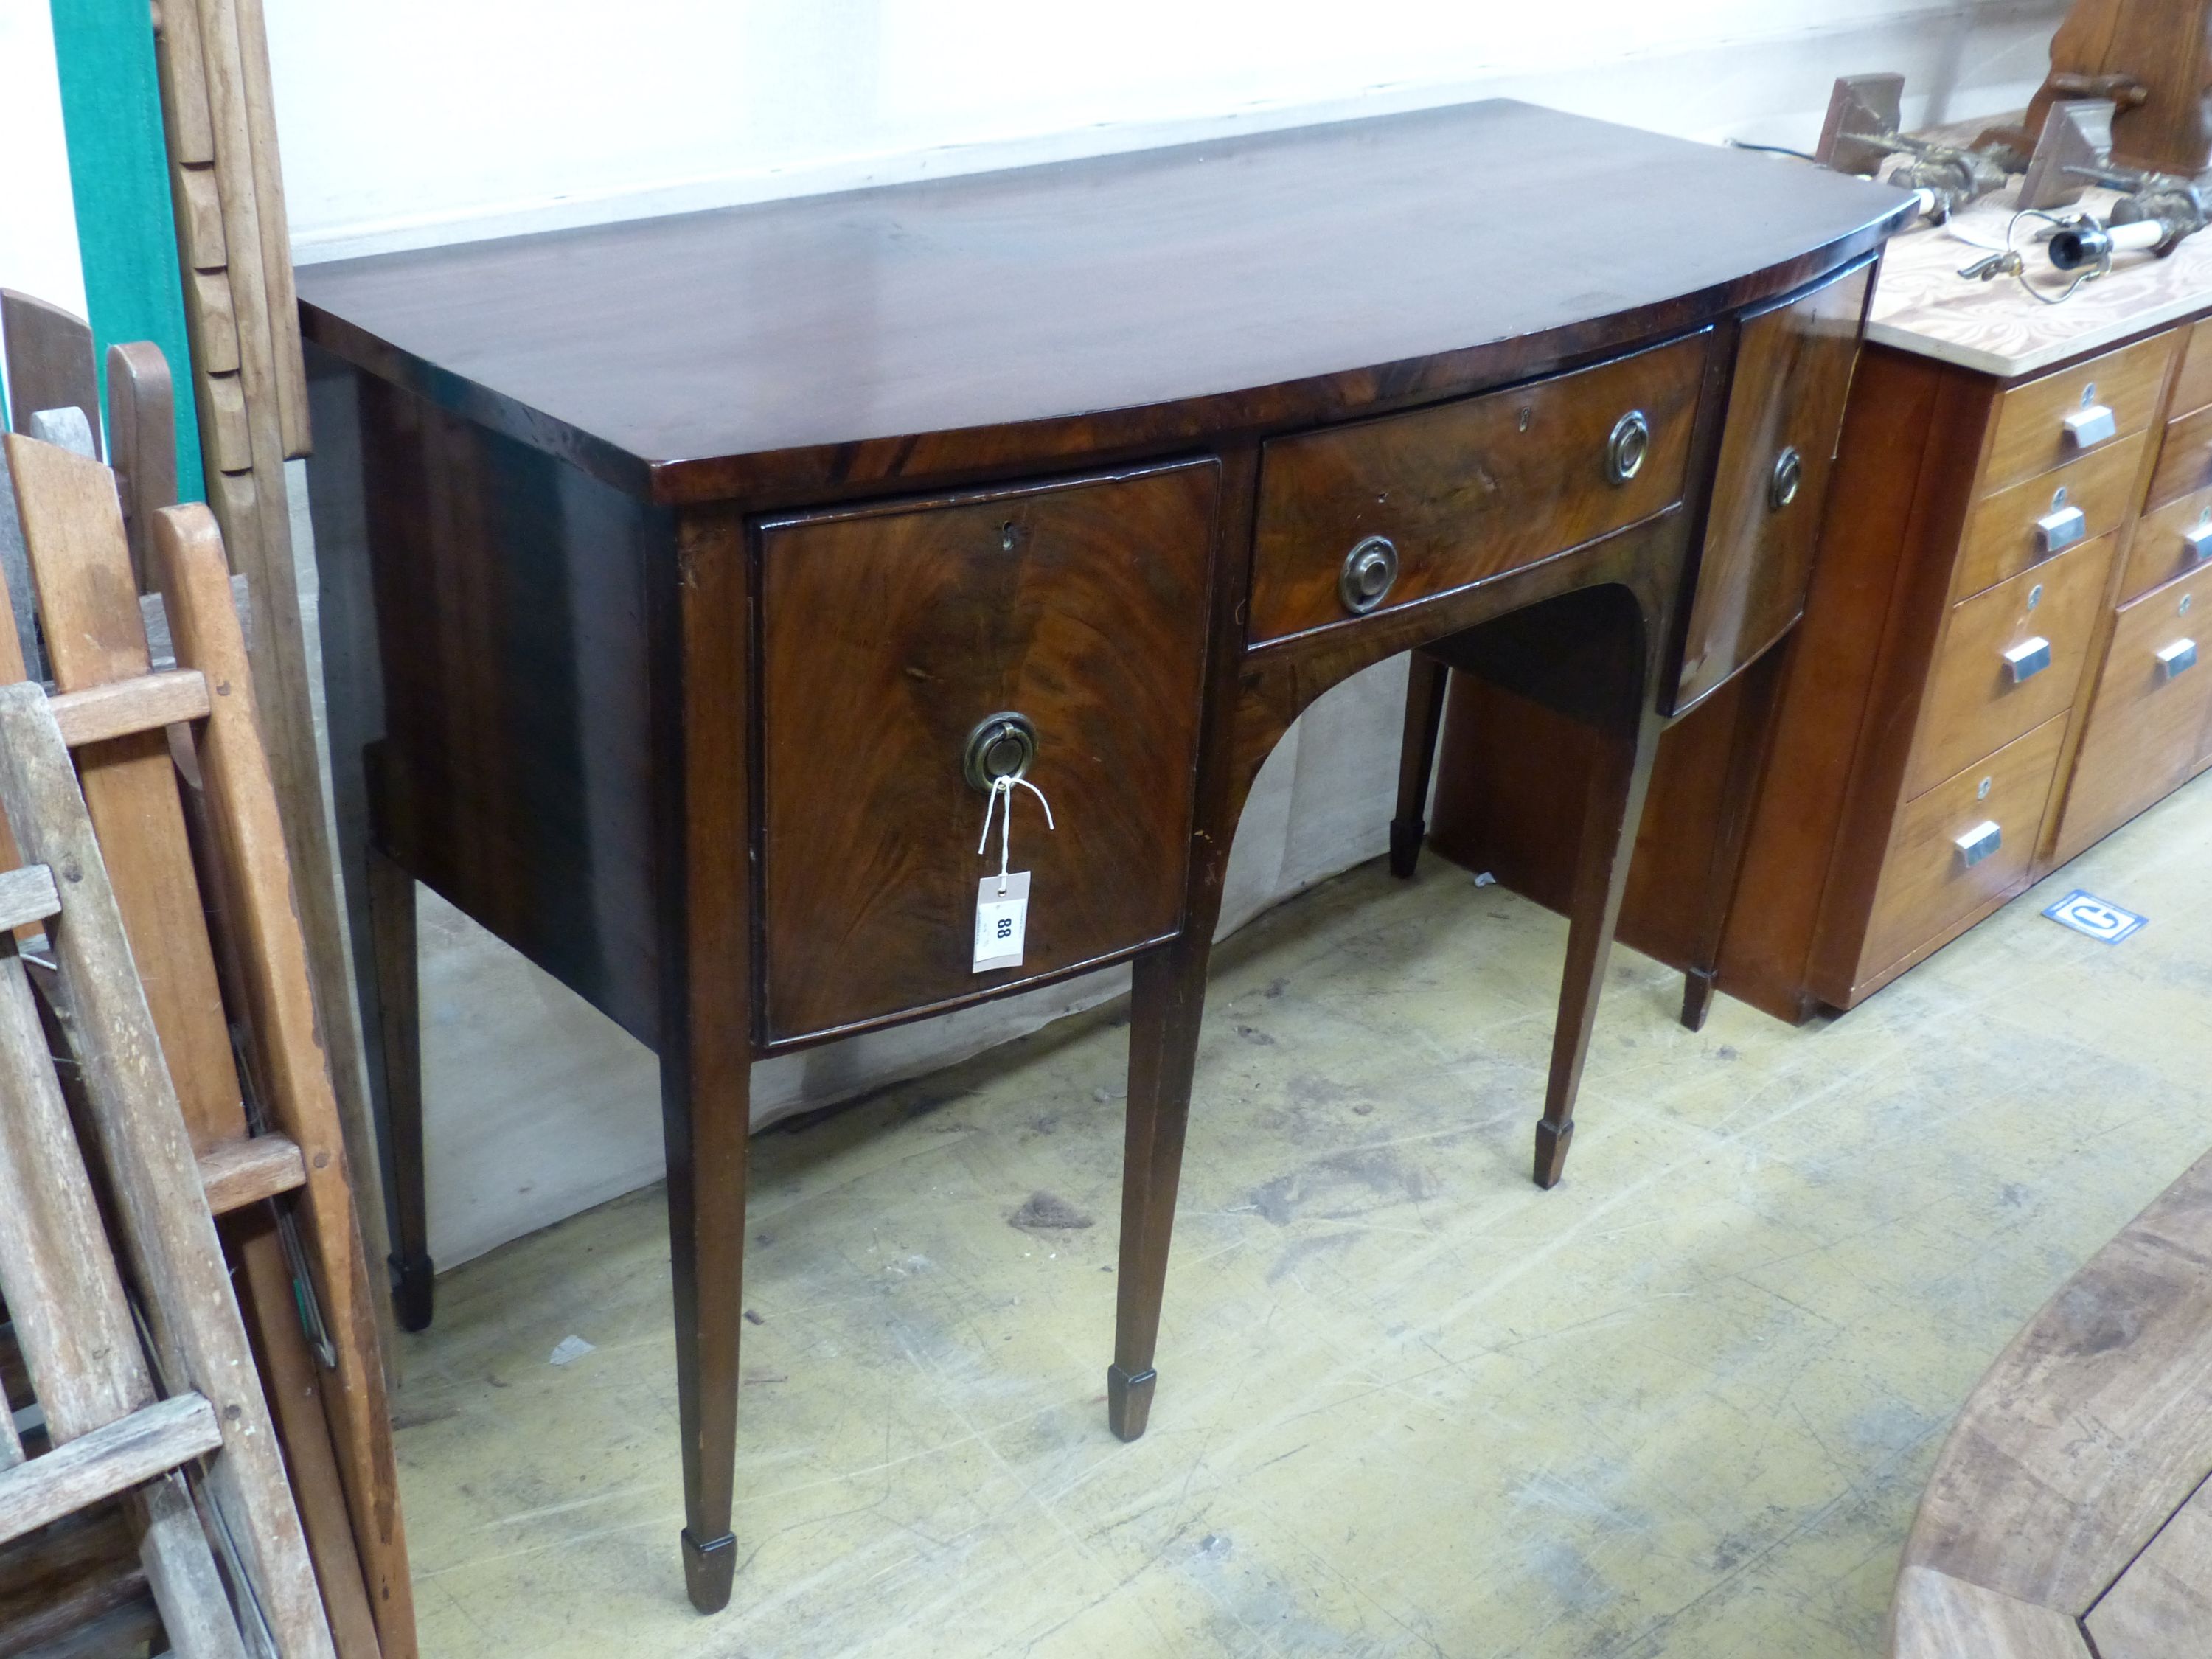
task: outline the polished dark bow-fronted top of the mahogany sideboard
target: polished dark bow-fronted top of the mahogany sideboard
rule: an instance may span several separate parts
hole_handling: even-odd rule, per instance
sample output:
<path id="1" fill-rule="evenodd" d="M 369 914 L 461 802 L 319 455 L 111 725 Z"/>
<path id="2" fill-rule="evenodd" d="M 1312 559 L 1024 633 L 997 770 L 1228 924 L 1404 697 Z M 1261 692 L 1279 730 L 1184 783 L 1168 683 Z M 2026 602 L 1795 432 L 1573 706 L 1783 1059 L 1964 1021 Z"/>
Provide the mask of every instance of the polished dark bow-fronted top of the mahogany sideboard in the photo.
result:
<path id="1" fill-rule="evenodd" d="M 1502 232 L 1500 177 L 1579 206 Z M 1787 292 L 1900 204 L 1491 100 L 310 265 L 299 288 L 312 341 L 588 471 L 801 504 L 1540 374 Z"/>

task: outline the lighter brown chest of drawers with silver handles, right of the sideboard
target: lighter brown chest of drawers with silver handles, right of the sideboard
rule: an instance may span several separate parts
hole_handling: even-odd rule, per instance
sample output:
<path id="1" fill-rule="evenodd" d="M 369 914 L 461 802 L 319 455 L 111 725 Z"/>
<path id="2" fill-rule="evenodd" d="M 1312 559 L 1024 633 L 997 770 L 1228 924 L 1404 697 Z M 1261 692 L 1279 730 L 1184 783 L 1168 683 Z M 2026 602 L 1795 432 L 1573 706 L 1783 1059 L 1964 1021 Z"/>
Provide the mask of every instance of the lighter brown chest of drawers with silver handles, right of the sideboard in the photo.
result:
<path id="1" fill-rule="evenodd" d="M 1714 984 L 1851 1009 L 2212 765 L 2212 239 L 2059 305 L 1962 248 L 1885 257 L 1778 714 L 1739 684 L 1661 743 L 1619 931 L 1690 1024 Z M 1438 849 L 1564 905 L 1544 790 L 1584 770 L 1555 717 L 1455 697 Z"/>

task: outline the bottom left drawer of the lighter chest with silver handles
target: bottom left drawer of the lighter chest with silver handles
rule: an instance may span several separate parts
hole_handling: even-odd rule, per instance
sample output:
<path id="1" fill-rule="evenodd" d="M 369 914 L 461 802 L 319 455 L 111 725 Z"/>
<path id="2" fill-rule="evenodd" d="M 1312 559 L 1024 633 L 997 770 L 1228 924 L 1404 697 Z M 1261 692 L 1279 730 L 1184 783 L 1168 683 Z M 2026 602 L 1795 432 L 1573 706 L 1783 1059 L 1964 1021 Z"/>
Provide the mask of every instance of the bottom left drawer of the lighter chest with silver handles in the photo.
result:
<path id="1" fill-rule="evenodd" d="M 1898 810 L 1856 982 L 2026 883 L 2066 719 L 2055 714 Z"/>

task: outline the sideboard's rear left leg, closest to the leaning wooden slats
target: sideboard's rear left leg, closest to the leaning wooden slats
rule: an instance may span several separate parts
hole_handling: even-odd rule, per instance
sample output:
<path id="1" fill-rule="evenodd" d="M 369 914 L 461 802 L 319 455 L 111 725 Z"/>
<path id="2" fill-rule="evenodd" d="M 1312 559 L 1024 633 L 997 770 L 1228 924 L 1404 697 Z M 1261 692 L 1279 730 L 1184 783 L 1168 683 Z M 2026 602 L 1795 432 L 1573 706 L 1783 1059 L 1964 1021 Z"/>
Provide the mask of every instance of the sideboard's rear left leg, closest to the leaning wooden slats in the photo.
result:
<path id="1" fill-rule="evenodd" d="M 392 1137 L 392 1312 L 403 1329 L 431 1318 L 429 1203 L 422 1190 L 422 1009 L 416 975 L 414 876 L 369 847 L 369 945 L 376 958 L 376 1037 L 385 1053 Z"/>

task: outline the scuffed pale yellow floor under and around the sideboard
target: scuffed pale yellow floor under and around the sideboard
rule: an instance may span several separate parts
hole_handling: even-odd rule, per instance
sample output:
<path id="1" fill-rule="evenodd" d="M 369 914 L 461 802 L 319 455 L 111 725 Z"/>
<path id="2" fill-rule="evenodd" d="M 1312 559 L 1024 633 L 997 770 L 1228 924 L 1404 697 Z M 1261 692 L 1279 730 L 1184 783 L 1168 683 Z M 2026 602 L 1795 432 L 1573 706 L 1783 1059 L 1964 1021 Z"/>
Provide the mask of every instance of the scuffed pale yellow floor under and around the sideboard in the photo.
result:
<path id="1" fill-rule="evenodd" d="M 761 1137 L 717 1619 L 659 1192 L 469 1263 L 403 1360 L 425 1652 L 1880 1652 L 1958 1402 L 2212 1144 L 2208 847 L 2199 783 L 1825 1029 L 1619 953 L 1548 1194 L 1564 922 L 1433 858 L 1294 900 L 1217 953 L 1135 1447 L 1115 1011 Z"/>

